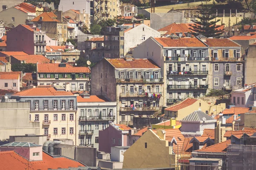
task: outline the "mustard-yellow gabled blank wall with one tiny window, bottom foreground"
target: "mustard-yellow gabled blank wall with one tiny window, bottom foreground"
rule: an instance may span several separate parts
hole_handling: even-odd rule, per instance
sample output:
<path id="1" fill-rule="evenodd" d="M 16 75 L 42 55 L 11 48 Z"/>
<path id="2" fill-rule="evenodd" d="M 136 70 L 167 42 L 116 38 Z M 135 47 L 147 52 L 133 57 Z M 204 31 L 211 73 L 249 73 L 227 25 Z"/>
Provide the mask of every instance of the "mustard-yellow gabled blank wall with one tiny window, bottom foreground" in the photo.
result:
<path id="1" fill-rule="evenodd" d="M 148 129 L 131 147 L 124 153 L 122 168 L 157 168 L 170 167 L 175 164 L 175 154 L 172 152 L 172 143 L 166 139 L 165 130 L 157 130 L 157 134 Z M 174 165 L 171 165 L 174 167 Z"/>

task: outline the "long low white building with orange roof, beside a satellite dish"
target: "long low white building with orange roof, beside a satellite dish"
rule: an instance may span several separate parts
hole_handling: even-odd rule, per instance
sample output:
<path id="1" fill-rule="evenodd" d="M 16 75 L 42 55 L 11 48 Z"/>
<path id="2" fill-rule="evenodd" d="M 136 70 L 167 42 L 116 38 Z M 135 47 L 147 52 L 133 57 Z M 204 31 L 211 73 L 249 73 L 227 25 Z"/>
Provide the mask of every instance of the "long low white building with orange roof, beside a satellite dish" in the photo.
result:
<path id="1" fill-rule="evenodd" d="M 38 63 L 37 82 L 38 85 L 66 85 L 70 91 L 90 91 L 90 70 L 66 63 Z"/>

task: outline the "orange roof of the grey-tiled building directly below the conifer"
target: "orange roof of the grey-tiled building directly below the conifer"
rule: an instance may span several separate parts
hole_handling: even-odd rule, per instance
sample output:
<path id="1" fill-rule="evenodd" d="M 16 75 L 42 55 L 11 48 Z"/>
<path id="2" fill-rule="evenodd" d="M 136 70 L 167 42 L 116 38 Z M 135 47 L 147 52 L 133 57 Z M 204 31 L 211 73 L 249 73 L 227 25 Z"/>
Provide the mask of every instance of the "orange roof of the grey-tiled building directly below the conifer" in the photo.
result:
<path id="1" fill-rule="evenodd" d="M 207 38 L 206 42 L 209 47 L 241 47 L 241 45 L 233 42 L 229 39 L 216 39 L 216 38 Z"/>

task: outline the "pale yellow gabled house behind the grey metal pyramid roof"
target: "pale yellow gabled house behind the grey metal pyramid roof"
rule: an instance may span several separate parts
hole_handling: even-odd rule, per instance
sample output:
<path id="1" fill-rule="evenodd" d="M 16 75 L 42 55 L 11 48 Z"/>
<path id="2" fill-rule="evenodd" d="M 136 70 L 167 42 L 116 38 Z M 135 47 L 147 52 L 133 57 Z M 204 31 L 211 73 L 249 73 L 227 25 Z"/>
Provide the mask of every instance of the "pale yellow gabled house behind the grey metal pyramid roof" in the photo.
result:
<path id="1" fill-rule="evenodd" d="M 192 111 L 198 110 L 212 115 L 222 112 L 225 108 L 225 103 L 221 103 L 220 105 L 213 105 L 212 103 L 207 103 L 202 99 L 187 98 L 182 102 L 166 108 L 164 119 L 176 118 L 177 120 L 180 120 L 188 116 Z"/>

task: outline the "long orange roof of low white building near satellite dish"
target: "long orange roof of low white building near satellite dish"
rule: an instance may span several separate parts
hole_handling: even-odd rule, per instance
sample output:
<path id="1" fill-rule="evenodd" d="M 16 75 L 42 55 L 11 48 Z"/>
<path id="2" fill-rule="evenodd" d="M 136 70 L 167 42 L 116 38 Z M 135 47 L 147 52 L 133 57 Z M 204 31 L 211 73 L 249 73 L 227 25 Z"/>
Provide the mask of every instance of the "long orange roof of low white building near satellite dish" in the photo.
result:
<path id="1" fill-rule="evenodd" d="M 40 63 L 38 73 L 90 73 L 90 70 L 88 67 L 73 67 L 69 64 L 59 67 L 58 63 Z"/>

